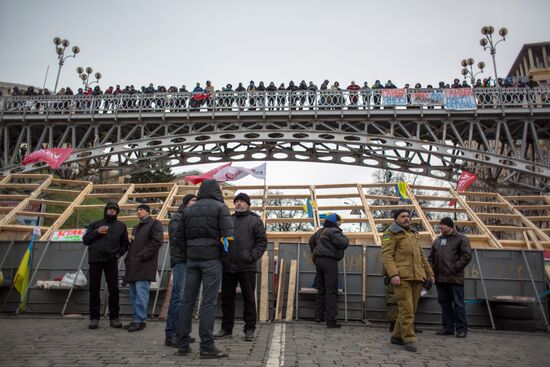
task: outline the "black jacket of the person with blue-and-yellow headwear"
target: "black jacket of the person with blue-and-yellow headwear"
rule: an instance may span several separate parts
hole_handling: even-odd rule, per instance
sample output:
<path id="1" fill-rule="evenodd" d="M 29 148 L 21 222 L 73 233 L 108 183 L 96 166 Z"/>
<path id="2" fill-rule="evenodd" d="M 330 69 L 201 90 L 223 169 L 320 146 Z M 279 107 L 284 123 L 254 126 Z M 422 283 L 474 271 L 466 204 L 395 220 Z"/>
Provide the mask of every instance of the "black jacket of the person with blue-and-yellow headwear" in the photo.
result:
<path id="1" fill-rule="evenodd" d="M 344 257 L 344 250 L 349 246 L 349 239 L 338 225 L 325 221 L 323 228 L 319 229 L 309 238 L 309 249 L 313 258 L 329 257 L 341 260 Z"/>

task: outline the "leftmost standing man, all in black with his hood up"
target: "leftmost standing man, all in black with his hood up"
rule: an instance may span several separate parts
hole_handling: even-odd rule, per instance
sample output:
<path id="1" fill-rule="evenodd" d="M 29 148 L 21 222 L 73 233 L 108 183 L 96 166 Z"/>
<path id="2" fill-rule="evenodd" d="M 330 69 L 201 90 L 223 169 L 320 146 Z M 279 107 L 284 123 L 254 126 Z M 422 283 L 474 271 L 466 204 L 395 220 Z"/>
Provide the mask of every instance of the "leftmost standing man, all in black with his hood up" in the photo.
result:
<path id="1" fill-rule="evenodd" d="M 109 320 L 111 327 L 121 328 L 118 319 L 118 258 L 128 250 L 128 229 L 126 224 L 117 220 L 120 208 L 117 203 L 107 203 L 103 219 L 86 227 L 82 238 L 88 246 L 88 264 L 90 270 L 90 329 L 99 326 L 101 298 L 101 275 L 105 273 L 107 289 L 109 290 Z"/>

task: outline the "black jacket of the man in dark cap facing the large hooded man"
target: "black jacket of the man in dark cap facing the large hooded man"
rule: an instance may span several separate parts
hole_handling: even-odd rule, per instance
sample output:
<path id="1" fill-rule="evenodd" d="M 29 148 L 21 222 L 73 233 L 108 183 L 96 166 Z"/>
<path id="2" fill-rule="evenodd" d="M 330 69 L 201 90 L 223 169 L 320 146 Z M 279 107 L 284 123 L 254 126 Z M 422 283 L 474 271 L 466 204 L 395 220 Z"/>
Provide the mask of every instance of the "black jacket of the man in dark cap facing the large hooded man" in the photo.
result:
<path id="1" fill-rule="evenodd" d="M 231 218 L 235 236 L 229 245 L 229 254 L 222 257 L 223 270 L 229 273 L 255 272 L 256 262 L 267 248 L 267 234 L 262 219 L 249 210 L 235 212 Z"/>

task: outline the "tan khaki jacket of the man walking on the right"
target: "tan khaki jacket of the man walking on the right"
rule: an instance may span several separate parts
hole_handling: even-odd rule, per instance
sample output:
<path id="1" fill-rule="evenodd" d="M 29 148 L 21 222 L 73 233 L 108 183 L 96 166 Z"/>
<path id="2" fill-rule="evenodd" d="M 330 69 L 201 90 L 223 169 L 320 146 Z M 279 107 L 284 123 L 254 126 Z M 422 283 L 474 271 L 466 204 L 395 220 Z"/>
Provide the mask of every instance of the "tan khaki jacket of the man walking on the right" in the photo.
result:
<path id="1" fill-rule="evenodd" d="M 413 229 L 404 229 L 393 222 L 382 236 L 382 264 L 388 276 L 401 280 L 426 281 L 433 271 L 424 256 L 420 236 Z"/>

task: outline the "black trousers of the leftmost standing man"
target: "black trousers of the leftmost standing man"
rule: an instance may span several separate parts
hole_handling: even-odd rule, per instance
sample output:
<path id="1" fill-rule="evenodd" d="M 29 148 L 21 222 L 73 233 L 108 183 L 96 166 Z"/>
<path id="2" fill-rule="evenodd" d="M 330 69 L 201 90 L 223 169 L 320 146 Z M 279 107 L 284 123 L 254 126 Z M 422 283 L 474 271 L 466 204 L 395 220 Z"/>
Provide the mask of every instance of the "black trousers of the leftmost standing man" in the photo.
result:
<path id="1" fill-rule="evenodd" d="M 118 264 L 113 259 L 108 262 L 91 263 L 88 277 L 90 278 L 90 320 L 99 320 L 101 309 L 101 275 L 105 273 L 105 281 L 109 290 L 109 319 L 118 319 Z"/>

